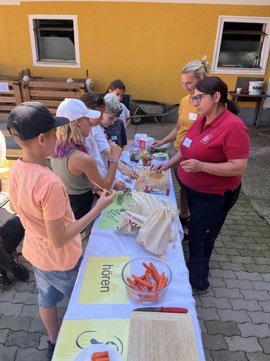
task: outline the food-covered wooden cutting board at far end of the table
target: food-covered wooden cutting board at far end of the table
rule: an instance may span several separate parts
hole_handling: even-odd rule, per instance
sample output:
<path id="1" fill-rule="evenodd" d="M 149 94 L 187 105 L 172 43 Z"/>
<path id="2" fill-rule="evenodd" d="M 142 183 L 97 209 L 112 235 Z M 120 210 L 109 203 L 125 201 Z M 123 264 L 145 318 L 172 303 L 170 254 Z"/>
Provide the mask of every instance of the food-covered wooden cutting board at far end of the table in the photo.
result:
<path id="1" fill-rule="evenodd" d="M 164 191 L 168 195 L 170 189 L 169 171 L 166 170 L 162 173 L 154 171 L 149 172 L 149 169 L 140 168 L 138 171 L 138 178 L 135 182 L 136 191 L 146 191 L 152 193 L 152 189 Z"/>

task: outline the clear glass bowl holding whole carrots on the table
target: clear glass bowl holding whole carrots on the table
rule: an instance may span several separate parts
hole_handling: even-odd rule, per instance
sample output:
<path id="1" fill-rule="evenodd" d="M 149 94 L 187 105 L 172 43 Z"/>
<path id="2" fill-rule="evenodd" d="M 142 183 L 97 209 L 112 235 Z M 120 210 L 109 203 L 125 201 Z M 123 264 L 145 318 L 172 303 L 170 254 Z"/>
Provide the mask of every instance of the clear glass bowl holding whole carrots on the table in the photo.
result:
<path id="1" fill-rule="evenodd" d="M 150 263 L 154 264 L 159 275 L 161 275 L 162 272 L 164 272 L 164 276 L 168 278 L 168 281 L 164 287 L 160 288 L 159 290 L 151 290 L 151 288 L 146 288 L 144 285 L 140 283 L 136 283 L 132 275 L 135 275 L 138 278 L 142 278 L 141 276 L 144 276 L 145 271 L 147 271 L 145 266 L 142 265 L 143 262 L 147 264 L 147 266 L 149 266 Z M 128 283 L 127 278 L 130 278 L 130 280 L 135 282 L 137 287 L 136 289 L 133 288 Z M 155 304 L 163 299 L 166 291 L 168 290 L 171 284 L 171 278 L 172 278 L 171 268 L 168 266 L 168 264 L 166 264 L 166 262 L 162 261 L 161 259 L 158 259 L 157 257 L 151 257 L 151 256 L 142 256 L 142 257 L 137 257 L 135 259 L 130 259 L 130 261 L 128 261 L 125 264 L 125 266 L 123 266 L 123 270 L 122 270 L 122 280 L 126 290 L 128 291 L 130 299 L 145 305 Z M 154 285 L 154 283 L 156 283 L 156 280 L 152 276 L 150 276 L 150 281 L 152 283 L 152 286 Z M 144 287 L 145 290 L 138 289 L 139 285 L 141 287 Z"/>

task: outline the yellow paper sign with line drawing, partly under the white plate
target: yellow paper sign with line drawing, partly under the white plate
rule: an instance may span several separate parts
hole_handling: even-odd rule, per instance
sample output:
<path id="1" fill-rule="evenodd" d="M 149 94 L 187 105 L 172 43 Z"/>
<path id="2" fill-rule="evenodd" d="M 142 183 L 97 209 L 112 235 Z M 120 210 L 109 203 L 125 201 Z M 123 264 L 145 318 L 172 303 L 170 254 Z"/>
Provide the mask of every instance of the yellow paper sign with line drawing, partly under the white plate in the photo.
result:
<path id="1" fill-rule="evenodd" d="M 126 361 L 128 328 L 129 319 L 64 320 L 53 361 L 73 361 L 83 348 L 99 343 L 113 347 Z"/>

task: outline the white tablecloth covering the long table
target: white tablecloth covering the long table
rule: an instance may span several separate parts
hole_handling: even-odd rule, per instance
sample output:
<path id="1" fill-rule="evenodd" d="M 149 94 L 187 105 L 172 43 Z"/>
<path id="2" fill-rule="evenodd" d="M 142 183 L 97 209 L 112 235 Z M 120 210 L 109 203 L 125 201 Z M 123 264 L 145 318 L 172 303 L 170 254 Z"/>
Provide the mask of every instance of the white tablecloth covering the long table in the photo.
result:
<path id="1" fill-rule="evenodd" d="M 128 160 L 128 152 L 123 152 L 123 159 Z M 118 177 L 118 179 L 120 179 Z M 134 184 L 128 187 L 133 187 Z M 159 195 L 160 196 L 160 195 Z M 176 196 L 173 190 L 173 183 L 170 177 L 170 195 L 161 196 L 166 197 L 173 202 L 176 202 Z M 82 287 L 82 280 L 87 265 L 87 259 L 90 256 L 130 256 L 133 259 L 137 256 L 152 256 L 148 251 L 142 249 L 140 245 L 135 243 L 135 237 L 128 237 L 120 235 L 114 230 L 99 229 L 99 221 L 101 216 L 97 218 L 90 235 L 90 240 L 85 250 L 85 256 L 78 273 L 78 279 L 75 283 L 73 295 L 70 298 L 68 309 L 64 316 L 68 319 L 128 319 L 133 309 L 143 307 L 141 304 L 130 301 L 129 304 L 78 304 L 80 289 Z M 180 227 L 181 228 L 181 227 Z M 176 242 L 176 249 L 173 249 L 173 244 L 170 242 L 166 251 L 166 262 L 171 267 L 173 279 L 171 286 L 168 288 L 164 299 L 155 304 L 154 307 L 186 307 L 188 313 L 192 315 L 195 326 L 195 333 L 197 338 L 197 348 L 200 355 L 200 360 L 204 361 L 204 350 L 202 348 L 202 338 L 200 331 L 200 324 L 197 319 L 195 309 L 195 300 L 192 297 L 192 290 L 188 280 L 188 269 L 185 266 L 185 259 L 183 256 L 183 249 L 180 244 L 182 239 L 182 229 Z"/>

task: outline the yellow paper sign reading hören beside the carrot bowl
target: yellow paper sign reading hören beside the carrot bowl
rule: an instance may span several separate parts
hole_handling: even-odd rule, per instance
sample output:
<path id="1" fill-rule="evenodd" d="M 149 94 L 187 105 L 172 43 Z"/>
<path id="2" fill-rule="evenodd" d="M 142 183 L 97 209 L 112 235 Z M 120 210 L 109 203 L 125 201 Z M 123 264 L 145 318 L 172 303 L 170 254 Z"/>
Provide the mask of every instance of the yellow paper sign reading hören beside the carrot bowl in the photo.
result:
<path id="1" fill-rule="evenodd" d="M 80 290 L 79 304 L 128 304 L 121 271 L 128 256 L 89 257 Z"/>

